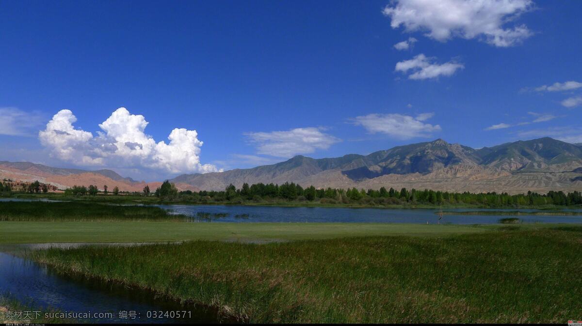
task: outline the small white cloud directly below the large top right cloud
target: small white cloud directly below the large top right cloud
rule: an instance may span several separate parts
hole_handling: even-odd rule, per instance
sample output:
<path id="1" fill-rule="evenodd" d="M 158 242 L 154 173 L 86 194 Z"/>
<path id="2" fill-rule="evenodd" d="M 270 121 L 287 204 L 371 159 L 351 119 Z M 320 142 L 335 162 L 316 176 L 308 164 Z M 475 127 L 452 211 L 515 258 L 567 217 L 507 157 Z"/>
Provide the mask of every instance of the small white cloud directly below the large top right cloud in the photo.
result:
<path id="1" fill-rule="evenodd" d="M 400 71 L 401 73 L 409 73 L 409 79 L 430 79 L 437 78 L 439 76 L 450 76 L 455 74 L 455 71 L 463 69 L 464 65 L 462 63 L 456 63 L 454 61 L 449 61 L 447 63 L 433 63 L 434 59 L 423 55 L 417 55 L 410 60 L 404 60 L 396 63 L 395 71 Z"/>

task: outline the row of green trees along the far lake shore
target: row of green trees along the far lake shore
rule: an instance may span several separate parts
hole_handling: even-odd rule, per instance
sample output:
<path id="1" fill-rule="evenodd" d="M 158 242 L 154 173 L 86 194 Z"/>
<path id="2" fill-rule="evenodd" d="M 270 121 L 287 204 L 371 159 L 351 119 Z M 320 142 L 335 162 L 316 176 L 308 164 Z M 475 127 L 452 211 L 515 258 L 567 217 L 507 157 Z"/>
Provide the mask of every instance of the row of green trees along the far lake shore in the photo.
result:
<path id="1" fill-rule="evenodd" d="M 178 191 L 176 186 L 166 180 L 154 193 L 163 200 L 170 201 L 256 201 L 265 200 L 286 200 L 286 201 L 320 201 L 324 204 L 473 204 L 488 206 L 512 206 L 512 205 L 579 205 L 582 204 L 582 193 L 573 191 L 564 193 L 563 191 L 549 191 L 546 194 L 539 194 L 528 191 L 527 194 L 508 193 L 455 193 L 439 190 L 417 190 L 386 189 L 381 187 L 375 189 L 337 189 L 320 188 L 314 186 L 303 188 L 300 184 L 286 182 L 284 184 L 264 184 L 256 183 L 249 186 L 244 183 L 240 189 L 230 184 L 223 191 Z"/>

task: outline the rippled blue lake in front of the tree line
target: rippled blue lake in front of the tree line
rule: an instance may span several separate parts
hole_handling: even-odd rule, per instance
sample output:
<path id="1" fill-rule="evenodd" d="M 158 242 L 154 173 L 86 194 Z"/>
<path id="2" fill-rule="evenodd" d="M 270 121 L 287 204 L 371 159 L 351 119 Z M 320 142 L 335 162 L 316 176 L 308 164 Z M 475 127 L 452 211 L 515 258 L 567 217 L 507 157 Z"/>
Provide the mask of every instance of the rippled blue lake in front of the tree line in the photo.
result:
<path id="1" fill-rule="evenodd" d="M 261 207 L 222 205 L 159 205 L 173 213 L 192 216 L 196 222 L 368 222 L 438 223 L 438 209 Z M 516 211 L 516 209 L 446 209 L 445 211 Z M 521 212 L 538 212 L 519 209 Z M 542 211 L 543 212 L 543 211 Z M 582 212 L 569 209 L 563 212 Z M 523 223 L 582 223 L 579 216 L 540 215 L 444 215 L 440 221 L 451 224 L 495 224 L 502 218 L 519 218 Z"/>

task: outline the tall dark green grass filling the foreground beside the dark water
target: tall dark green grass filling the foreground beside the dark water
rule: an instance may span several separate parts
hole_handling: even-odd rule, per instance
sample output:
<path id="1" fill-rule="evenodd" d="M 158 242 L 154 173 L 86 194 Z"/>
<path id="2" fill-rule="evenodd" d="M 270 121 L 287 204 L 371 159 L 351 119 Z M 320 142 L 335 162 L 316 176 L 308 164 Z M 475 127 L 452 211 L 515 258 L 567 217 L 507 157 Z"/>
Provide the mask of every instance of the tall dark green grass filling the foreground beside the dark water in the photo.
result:
<path id="1" fill-rule="evenodd" d="M 580 226 L 513 226 L 435 238 L 194 241 L 31 257 L 253 323 L 563 323 L 582 311 L 581 249 Z"/>

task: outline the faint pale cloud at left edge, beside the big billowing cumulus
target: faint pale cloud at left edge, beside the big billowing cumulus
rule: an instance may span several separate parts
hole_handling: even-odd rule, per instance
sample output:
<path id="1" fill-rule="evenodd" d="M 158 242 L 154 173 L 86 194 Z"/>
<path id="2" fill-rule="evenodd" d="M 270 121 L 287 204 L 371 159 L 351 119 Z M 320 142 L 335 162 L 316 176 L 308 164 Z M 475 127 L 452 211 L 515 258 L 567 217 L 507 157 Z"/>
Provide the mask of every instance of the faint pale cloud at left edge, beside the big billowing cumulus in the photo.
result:
<path id="1" fill-rule="evenodd" d="M 42 114 L 38 112 L 0 107 L 0 135 L 34 137 L 43 121 Z"/>

